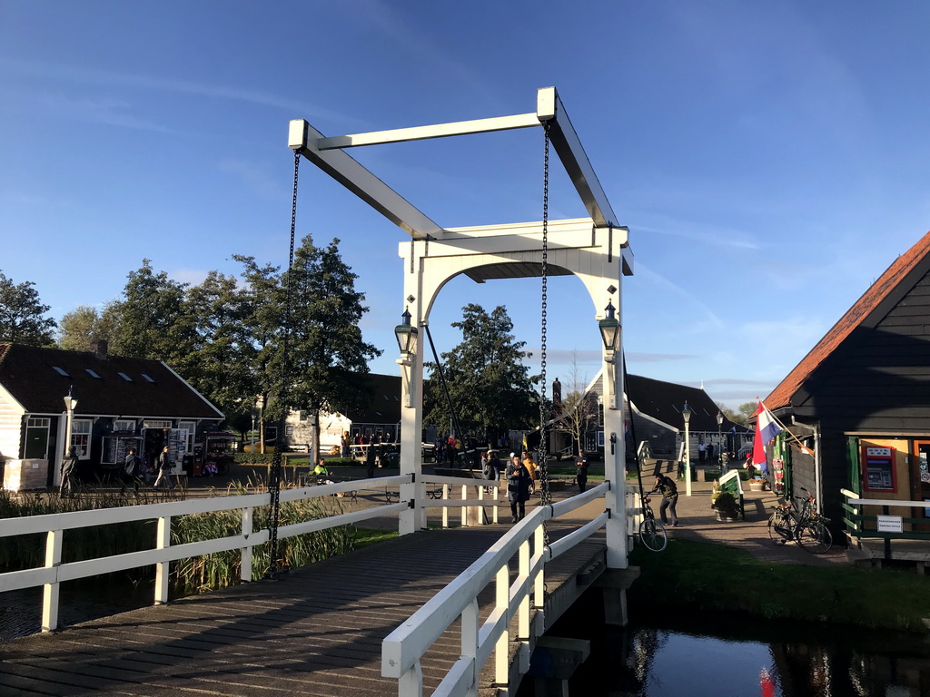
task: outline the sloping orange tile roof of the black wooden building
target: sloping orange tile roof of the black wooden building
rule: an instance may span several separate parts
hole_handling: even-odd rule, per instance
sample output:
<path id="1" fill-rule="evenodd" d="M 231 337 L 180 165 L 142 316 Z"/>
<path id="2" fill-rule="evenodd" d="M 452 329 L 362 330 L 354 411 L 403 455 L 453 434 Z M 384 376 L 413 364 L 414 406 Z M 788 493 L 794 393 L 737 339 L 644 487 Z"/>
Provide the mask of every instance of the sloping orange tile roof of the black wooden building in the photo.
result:
<path id="1" fill-rule="evenodd" d="M 833 325 L 830 331 L 817 342 L 817 345 L 804 356 L 804 359 L 778 384 L 777 388 L 773 389 L 772 393 L 765 398 L 765 406 L 769 409 L 789 406 L 791 397 L 804 385 L 804 382 L 817 369 L 817 366 L 824 362 L 834 350 L 838 349 L 846 337 L 852 334 L 857 326 L 878 309 L 883 300 L 895 291 L 898 284 L 928 254 L 930 254 L 930 232 L 923 235 L 923 238 L 907 252 L 898 256 L 882 276 L 871 284 L 869 290 L 862 294 L 853 304 L 853 307 L 846 310 L 840 321 Z"/>

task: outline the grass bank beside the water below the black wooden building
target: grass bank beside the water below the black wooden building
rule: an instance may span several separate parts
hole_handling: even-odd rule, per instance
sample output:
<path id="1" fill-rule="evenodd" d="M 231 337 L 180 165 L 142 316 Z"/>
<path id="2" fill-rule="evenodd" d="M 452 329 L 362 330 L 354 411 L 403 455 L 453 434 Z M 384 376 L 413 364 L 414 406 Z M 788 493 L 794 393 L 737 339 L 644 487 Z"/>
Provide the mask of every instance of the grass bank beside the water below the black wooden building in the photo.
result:
<path id="1" fill-rule="evenodd" d="M 658 554 L 637 546 L 631 564 L 641 568 L 631 603 L 922 632 L 930 618 L 930 578 L 913 571 L 775 564 L 687 540 Z"/>

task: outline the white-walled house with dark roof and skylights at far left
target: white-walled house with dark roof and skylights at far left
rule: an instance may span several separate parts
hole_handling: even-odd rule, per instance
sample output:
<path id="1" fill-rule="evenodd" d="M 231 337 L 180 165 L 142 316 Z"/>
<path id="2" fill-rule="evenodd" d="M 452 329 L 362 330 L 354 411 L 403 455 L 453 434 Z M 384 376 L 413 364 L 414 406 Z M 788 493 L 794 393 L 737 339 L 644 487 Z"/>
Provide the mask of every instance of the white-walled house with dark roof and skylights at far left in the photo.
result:
<path id="1" fill-rule="evenodd" d="M 168 445 L 181 462 L 223 419 L 165 362 L 108 355 L 105 341 L 92 351 L 0 343 L 0 463 L 44 461 L 47 484 L 67 445 L 77 448 L 80 476 L 92 478 L 113 470 L 129 447 L 151 464 Z"/>

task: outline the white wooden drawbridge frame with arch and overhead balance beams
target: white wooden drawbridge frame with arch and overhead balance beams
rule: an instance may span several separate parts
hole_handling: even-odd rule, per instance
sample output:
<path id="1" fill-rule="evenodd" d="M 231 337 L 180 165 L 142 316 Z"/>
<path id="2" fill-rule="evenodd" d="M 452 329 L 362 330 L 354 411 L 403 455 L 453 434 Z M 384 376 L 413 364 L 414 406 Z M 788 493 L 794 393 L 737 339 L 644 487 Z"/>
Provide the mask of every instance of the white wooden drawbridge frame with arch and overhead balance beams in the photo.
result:
<path id="1" fill-rule="evenodd" d="M 417 207 L 377 178 L 345 150 L 366 145 L 445 138 L 528 127 L 546 127 L 551 144 L 565 171 L 581 197 L 589 217 L 550 221 L 548 232 L 547 272 L 551 275 L 576 275 L 591 296 L 594 320 L 601 320 L 602 308 L 615 303 L 622 317 L 621 278 L 632 273 L 629 231 L 618 225 L 617 217 L 581 147 L 578 135 L 568 119 L 565 107 L 554 87 L 538 90 L 536 112 L 478 119 L 440 125 L 424 125 L 389 131 L 326 138 L 302 119 L 290 122 L 289 147 L 312 164 L 335 178 L 365 203 L 397 224 L 410 236 L 400 244 L 404 258 L 404 306 L 415 328 L 429 322 L 433 301 L 445 283 L 466 274 L 483 283 L 491 279 L 535 277 L 541 275 L 543 263 L 542 223 L 445 228 L 432 221 Z M 615 362 L 622 356 L 618 349 L 602 347 L 604 368 L 605 476 L 624 481 L 622 370 Z M 401 473 L 413 475 L 402 487 L 401 498 L 418 502 L 426 492 L 420 478 L 422 454 L 419 447 L 423 426 L 423 361 L 420 356 L 405 356 L 401 418 Z M 626 511 L 622 492 L 607 494 L 610 512 L 607 523 L 607 565 L 627 566 Z M 425 527 L 421 508 L 412 506 L 400 517 L 399 532 L 413 533 Z"/>

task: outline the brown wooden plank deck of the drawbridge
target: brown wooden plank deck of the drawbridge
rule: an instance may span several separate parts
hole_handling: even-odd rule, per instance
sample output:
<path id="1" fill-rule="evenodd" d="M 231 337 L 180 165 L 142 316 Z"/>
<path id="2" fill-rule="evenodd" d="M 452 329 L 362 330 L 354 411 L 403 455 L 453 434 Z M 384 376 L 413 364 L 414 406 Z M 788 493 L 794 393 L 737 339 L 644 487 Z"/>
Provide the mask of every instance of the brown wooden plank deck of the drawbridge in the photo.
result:
<path id="1" fill-rule="evenodd" d="M 380 675 L 381 639 L 508 529 L 406 535 L 276 581 L 0 643 L 0 693 L 396 694 Z M 574 585 L 603 548 L 595 536 L 552 562 L 547 591 Z M 454 623 L 424 657 L 426 693 L 459 653 Z"/>

